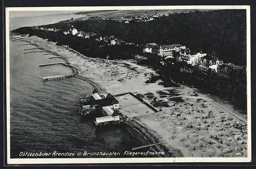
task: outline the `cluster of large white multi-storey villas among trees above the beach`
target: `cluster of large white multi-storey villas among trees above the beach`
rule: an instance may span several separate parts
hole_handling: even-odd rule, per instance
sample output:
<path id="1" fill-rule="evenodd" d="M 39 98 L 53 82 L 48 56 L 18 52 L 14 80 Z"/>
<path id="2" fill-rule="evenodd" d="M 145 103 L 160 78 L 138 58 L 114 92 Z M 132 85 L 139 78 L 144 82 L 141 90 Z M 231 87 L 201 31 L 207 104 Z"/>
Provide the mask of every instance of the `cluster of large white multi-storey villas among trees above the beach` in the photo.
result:
<path id="1" fill-rule="evenodd" d="M 206 73 L 210 69 L 223 78 L 229 78 L 229 73 L 236 68 L 232 63 L 224 63 L 218 59 L 217 53 L 210 54 L 200 52 L 191 52 L 189 48 L 181 44 L 158 45 L 157 43 L 147 43 L 143 52 L 152 53 L 160 57 L 162 63 L 167 59 L 176 59 L 177 62 L 185 62 L 191 66 L 198 66 Z"/>

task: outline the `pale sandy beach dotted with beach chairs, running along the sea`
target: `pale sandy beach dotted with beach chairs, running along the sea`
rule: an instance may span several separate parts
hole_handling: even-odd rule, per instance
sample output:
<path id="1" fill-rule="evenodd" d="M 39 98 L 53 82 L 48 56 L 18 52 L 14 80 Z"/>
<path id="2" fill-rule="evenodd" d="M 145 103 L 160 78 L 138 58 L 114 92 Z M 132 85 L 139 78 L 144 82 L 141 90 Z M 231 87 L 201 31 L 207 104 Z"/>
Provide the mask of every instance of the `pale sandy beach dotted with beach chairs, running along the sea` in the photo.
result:
<path id="1" fill-rule="evenodd" d="M 153 136 L 154 143 L 166 142 L 159 149 L 167 148 L 174 157 L 247 156 L 247 119 L 231 105 L 195 95 L 195 89 L 182 85 L 164 87 L 161 80 L 145 83 L 156 72 L 132 60 L 87 58 L 46 39 L 32 36 L 26 40 L 55 52 L 104 92 L 131 92 L 152 104 L 159 112 L 145 109 L 129 95 L 117 97 L 131 126 Z"/>

